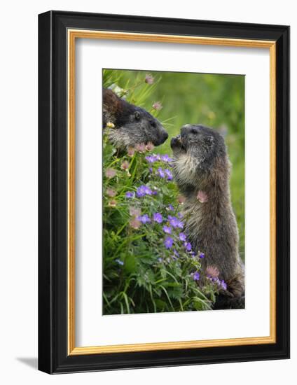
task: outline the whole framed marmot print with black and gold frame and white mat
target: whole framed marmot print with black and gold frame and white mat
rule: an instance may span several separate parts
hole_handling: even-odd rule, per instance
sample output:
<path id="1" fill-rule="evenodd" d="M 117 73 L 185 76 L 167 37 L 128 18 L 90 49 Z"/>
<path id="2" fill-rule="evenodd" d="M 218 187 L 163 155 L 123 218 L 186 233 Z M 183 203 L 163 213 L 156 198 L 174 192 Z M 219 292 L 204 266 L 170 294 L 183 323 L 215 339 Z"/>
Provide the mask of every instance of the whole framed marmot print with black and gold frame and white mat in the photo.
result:
<path id="1" fill-rule="evenodd" d="M 39 370 L 289 358 L 289 27 L 39 15 Z"/>

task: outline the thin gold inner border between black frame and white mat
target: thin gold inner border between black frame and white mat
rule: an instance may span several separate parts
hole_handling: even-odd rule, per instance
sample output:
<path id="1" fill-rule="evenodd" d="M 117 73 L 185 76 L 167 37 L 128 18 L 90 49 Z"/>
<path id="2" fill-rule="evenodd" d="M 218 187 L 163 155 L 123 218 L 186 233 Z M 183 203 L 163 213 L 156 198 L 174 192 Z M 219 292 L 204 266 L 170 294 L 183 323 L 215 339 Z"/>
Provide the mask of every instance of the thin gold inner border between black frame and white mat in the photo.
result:
<path id="1" fill-rule="evenodd" d="M 75 43 L 76 38 L 97 38 L 126 41 L 153 41 L 221 45 L 232 47 L 268 48 L 270 50 L 270 335 L 230 339 L 203 339 L 196 341 L 151 342 L 104 346 L 75 345 Z M 68 235 L 67 235 L 67 330 L 68 355 L 156 351 L 169 349 L 197 349 L 214 346 L 273 344 L 276 342 L 276 42 L 237 38 L 212 38 L 166 34 L 139 34 L 131 32 L 68 29 Z"/>

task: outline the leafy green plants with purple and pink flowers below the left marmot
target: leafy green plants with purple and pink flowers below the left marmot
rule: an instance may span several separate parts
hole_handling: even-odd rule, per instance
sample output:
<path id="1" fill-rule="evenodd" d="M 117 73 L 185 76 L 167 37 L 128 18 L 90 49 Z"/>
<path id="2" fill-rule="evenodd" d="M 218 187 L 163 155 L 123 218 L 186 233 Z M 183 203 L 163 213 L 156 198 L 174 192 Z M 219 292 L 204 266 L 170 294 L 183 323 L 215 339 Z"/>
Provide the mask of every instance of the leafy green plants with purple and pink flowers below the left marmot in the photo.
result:
<path id="1" fill-rule="evenodd" d="M 104 130 L 104 314 L 212 309 L 225 283 L 193 251 L 172 159 L 138 145 L 119 153 Z M 203 285 L 201 282 L 204 282 Z"/>

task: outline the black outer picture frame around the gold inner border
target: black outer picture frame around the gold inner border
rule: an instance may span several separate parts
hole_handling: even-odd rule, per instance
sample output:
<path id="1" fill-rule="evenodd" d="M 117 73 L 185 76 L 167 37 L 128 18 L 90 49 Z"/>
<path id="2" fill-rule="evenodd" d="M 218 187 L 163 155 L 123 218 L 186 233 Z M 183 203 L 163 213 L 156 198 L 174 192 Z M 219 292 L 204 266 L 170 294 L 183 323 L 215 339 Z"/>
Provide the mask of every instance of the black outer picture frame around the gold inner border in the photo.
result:
<path id="1" fill-rule="evenodd" d="M 275 344 L 67 353 L 67 29 L 275 41 Z M 256 119 L 256 117 L 255 117 Z M 39 15 L 39 370 L 66 373 L 289 358 L 289 27 L 51 10 Z"/>

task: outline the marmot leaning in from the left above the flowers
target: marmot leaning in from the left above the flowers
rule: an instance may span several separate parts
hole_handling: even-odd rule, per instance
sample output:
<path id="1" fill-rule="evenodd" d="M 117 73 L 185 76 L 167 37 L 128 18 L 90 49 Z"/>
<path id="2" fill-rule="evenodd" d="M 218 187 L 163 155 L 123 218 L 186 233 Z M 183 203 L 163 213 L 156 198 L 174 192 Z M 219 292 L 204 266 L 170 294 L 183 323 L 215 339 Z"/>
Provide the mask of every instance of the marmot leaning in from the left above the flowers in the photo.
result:
<path id="1" fill-rule="evenodd" d="M 149 142 L 154 146 L 159 146 L 168 138 L 163 125 L 150 113 L 126 102 L 113 91 L 104 88 L 104 127 L 107 123 L 114 125 L 109 132 L 109 139 L 117 148 L 125 149 Z"/>

